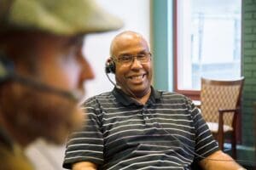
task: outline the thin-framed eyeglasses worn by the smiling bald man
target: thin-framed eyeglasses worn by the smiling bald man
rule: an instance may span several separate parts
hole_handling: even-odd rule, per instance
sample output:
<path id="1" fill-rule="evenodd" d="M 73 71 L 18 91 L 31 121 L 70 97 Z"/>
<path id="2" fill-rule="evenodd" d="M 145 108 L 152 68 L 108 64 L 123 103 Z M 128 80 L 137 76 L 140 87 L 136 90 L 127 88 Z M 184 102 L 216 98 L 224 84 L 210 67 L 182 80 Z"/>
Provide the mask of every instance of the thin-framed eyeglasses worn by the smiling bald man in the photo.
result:
<path id="1" fill-rule="evenodd" d="M 114 61 L 117 61 L 121 65 L 131 65 L 136 58 L 140 63 L 148 63 L 148 61 L 151 59 L 151 53 L 147 54 L 136 54 L 136 55 L 121 55 L 118 58 L 112 58 Z"/>

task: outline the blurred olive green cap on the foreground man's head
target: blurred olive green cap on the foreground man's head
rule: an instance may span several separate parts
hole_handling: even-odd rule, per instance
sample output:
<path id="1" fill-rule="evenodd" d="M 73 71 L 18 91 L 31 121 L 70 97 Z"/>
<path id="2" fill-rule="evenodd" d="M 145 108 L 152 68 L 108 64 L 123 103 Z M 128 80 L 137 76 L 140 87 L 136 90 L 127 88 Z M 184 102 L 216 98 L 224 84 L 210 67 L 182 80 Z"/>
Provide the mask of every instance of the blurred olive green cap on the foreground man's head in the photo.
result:
<path id="1" fill-rule="evenodd" d="M 43 31 L 77 35 L 117 30 L 122 25 L 96 0 L 0 0 L 0 34 Z"/>

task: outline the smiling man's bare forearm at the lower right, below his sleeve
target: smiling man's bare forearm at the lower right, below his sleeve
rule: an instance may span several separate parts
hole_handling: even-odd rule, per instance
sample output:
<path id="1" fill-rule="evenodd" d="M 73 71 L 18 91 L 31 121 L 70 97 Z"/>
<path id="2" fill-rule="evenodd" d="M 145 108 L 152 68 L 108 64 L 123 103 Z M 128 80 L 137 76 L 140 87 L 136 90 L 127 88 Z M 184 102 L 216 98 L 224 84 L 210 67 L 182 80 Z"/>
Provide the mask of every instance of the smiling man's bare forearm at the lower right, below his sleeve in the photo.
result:
<path id="1" fill-rule="evenodd" d="M 227 160 L 227 161 L 218 161 L 218 160 Z M 242 170 L 245 169 L 241 167 L 235 160 L 232 159 L 229 155 L 225 154 L 223 151 L 218 150 L 212 155 L 207 156 L 205 159 L 199 162 L 199 165 L 203 169 L 207 170 Z"/>

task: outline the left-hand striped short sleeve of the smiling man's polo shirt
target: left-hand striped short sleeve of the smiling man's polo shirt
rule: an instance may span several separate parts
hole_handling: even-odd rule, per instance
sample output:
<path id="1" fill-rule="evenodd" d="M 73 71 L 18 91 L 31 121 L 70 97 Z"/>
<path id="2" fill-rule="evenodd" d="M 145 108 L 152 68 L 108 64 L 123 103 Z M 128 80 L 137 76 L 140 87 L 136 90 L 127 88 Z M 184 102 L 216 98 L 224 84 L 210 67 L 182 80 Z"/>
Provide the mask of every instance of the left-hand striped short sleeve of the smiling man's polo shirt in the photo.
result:
<path id="1" fill-rule="evenodd" d="M 83 109 L 86 112 L 84 126 L 81 131 L 72 133 L 67 140 L 64 168 L 72 168 L 79 161 L 90 161 L 96 165 L 103 163 L 103 139 L 99 122 L 101 111 L 96 99 L 88 99 Z"/>

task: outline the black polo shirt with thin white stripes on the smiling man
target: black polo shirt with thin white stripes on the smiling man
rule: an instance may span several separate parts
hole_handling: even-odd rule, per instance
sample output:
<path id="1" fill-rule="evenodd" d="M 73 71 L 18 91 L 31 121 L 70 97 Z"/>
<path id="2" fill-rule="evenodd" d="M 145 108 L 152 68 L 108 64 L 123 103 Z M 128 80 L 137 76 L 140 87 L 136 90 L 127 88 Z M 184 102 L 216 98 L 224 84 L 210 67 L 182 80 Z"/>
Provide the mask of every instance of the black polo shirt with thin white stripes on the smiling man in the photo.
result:
<path id="1" fill-rule="evenodd" d="M 190 169 L 218 150 L 201 112 L 181 94 L 154 90 L 145 105 L 114 88 L 84 103 L 82 131 L 67 141 L 63 167 L 90 161 L 98 169 Z"/>

